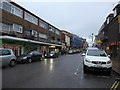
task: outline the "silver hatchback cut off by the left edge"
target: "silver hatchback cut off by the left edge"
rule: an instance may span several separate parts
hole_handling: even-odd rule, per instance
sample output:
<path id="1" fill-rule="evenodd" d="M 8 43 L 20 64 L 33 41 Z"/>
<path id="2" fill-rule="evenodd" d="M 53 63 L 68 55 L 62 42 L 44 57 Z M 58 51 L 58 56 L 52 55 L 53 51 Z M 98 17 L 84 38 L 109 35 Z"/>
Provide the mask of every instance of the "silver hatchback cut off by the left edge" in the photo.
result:
<path id="1" fill-rule="evenodd" d="M 16 56 L 14 55 L 12 49 L 0 48 L 0 64 L 2 67 L 11 66 L 14 67 L 16 64 Z"/>

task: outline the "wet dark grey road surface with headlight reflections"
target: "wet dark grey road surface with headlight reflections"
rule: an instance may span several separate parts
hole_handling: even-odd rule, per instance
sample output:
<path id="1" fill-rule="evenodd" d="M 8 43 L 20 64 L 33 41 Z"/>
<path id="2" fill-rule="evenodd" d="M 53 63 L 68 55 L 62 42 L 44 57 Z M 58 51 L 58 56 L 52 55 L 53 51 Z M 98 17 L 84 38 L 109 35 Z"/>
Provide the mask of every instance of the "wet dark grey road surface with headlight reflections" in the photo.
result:
<path id="1" fill-rule="evenodd" d="M 117 73 L 111 76 L 89 72 L 83 74 L 81 54 L 43 59 L 3 69 L 3 88 L 110 88 Z"/>

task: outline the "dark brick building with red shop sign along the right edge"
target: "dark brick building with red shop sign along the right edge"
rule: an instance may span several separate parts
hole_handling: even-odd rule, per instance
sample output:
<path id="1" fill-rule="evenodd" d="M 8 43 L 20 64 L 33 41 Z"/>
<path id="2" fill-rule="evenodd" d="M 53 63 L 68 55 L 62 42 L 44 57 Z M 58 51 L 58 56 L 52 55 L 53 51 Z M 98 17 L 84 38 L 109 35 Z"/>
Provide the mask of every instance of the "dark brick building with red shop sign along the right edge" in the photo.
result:
<path id="1" fill-rule="evenodd" d="M 120 4 L 106 18 L 98 33 L 101 47 L 111 54 L 113 69 L 120 73 Z"/>

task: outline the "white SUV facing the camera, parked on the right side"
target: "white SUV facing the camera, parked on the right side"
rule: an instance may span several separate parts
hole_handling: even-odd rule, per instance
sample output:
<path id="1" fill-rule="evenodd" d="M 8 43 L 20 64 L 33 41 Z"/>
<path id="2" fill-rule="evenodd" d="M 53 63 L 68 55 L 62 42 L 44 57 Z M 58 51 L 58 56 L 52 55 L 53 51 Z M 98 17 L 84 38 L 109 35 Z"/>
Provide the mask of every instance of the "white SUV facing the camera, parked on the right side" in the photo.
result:
<path id="1" fill-rule="evenodd" d="M 86 73 L 88 70 L 105 71 L 111 73 L 112 61 L 110 56 L 104 50 L 98 48 L 88 48 L 84 57 L 83 71 Z"/>

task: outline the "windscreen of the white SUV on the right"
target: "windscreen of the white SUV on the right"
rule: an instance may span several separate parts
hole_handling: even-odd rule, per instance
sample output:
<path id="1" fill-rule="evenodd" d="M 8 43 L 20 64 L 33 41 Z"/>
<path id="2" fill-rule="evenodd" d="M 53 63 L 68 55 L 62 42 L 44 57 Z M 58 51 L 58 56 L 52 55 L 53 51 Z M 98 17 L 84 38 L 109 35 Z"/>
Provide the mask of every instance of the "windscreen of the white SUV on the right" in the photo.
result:
<path id="1" fill-rule="evenodd" d="M 106 54 L 103 50 L 88 50 L 88 56 L 103 56 L 106 57 Z"/>

